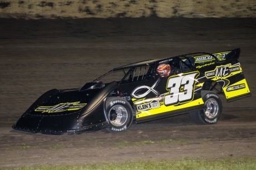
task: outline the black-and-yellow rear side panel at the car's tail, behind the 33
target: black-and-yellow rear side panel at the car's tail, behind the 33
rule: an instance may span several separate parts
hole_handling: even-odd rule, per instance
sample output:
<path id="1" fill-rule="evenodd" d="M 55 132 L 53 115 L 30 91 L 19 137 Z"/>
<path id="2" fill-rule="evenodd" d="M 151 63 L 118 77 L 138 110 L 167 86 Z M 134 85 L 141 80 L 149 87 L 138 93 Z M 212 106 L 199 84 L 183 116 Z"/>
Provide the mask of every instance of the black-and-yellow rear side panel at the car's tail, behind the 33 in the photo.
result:
<path id="1" fill-rule="evenodd" d="M 232 51 L 215 53 L 214 55 L 216 55 L 220 62 L 213 64 L 216 66 L 213 70 L 205 72 L 206 78 L 220 84 L 228 102 L 251 96 L 242 67 L 238 61 L 239 54 L 240 48 L 233 49 Z M 208 59 L 213 58 L 208 57 Z"/>

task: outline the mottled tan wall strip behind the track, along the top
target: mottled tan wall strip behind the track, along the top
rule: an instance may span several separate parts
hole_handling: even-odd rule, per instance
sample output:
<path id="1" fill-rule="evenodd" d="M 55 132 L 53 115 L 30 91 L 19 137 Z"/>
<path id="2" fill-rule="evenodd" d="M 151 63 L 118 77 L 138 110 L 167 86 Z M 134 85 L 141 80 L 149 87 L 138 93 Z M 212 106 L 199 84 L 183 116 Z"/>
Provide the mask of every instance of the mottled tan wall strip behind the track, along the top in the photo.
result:
<path id="1" fill-rule="evenodd" d="M 255 0 L 0 1 L 1 18 L 256 17 Z"/>

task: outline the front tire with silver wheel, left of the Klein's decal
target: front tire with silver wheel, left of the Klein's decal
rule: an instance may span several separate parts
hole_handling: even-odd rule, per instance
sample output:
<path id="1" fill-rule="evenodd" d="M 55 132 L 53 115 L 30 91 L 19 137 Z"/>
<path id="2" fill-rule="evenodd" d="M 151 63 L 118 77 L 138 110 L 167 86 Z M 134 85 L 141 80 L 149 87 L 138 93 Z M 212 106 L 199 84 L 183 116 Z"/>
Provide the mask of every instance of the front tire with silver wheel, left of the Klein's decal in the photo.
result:
<path id="1" fill-rule="evenodd" d="M 106 116 L 109 119 L 110 127 L 101 130 L 107 133 L 129 129 L 134 118 L 130 103 L 120 97 L 107 98 Z"/>

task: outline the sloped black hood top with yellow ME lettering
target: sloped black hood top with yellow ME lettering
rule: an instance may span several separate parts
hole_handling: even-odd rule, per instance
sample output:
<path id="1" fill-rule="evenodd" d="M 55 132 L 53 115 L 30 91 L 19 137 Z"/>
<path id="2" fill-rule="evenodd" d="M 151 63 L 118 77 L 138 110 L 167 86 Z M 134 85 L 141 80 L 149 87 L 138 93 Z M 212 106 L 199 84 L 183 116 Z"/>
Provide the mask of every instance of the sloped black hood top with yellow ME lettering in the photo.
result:
<path id="1" fill-rule="evenodd" d="M 97 83 L 87 83 L 82 88 L 75 89 L 52 89 L 46 92 L 23 114 L 33 116 L 61 116 L 76 112 L 90 111 L 93 106 L 99 104 L 106 97 L 106 92 L 116 82 L 102 85 L 95 88 Z M 92 86 L 93 88 L 90 88 Z M 85 88 L 86 87 L 86 88 Z"/>

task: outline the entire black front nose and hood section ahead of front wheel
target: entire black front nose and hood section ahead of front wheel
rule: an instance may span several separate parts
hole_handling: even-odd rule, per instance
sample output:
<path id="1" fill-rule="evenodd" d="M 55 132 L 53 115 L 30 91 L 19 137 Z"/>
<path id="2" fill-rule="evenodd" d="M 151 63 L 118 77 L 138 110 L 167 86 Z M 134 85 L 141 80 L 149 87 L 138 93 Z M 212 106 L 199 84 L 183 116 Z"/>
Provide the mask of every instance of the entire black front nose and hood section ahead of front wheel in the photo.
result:
<path id="1" fill-rule="evenodd" d="M 117 83 L 112 82 L 98 89 L 83 91 L 79 88 L 52 89 L 38 98 L 13 128 L 29 132 L 62 134 L 91 132 L 108 127 L 104 99 L 116 86 Z"/>

